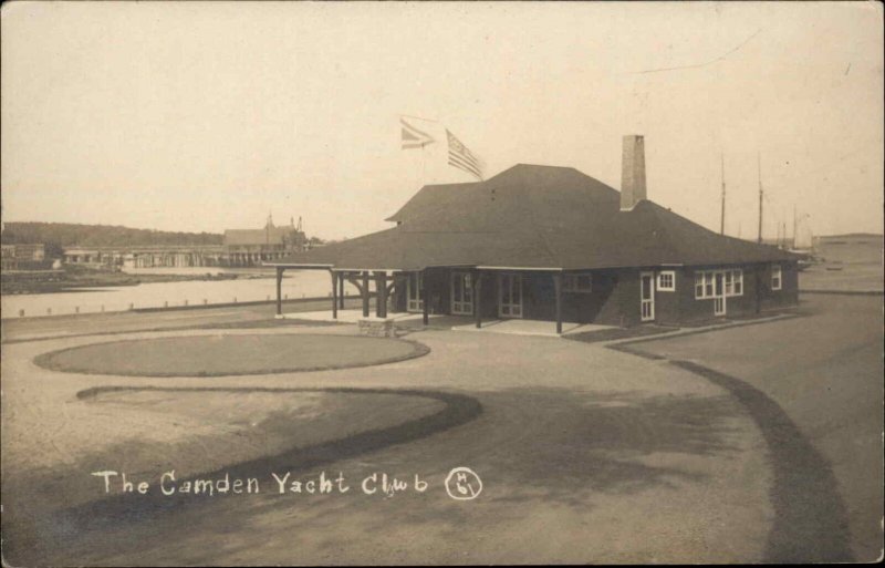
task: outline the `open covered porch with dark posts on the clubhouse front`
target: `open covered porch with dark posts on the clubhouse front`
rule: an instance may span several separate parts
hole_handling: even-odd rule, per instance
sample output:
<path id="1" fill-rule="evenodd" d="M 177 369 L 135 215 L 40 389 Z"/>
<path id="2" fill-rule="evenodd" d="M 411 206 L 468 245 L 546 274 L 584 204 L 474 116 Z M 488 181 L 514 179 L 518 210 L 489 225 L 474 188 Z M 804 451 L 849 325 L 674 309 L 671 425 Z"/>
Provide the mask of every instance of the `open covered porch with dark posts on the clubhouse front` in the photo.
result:
<path id="1" fill-rule="evenodd" d="M 340 269 L 331 265 L 274 265 L 277 317 L 285 318 L 280 297 L 287 268 L 326 270 L 330 310 L 299 319 L 339 322 L 391 322 L 403 327 L 490 330 L 560 335 L 610 326 L 593 322 L 589 272 L 478 266 L 404 269 Z M 362 299 L 361 310 L 344 310 L 344 283 Z M 605 296 L 603 290 L 597 297 Z M 597 302 L 600 303 L 600 302 Z M 591 306 L 592 308 L 592 306 Z M 582 311 L 583 310 L 583 311 Z"/>

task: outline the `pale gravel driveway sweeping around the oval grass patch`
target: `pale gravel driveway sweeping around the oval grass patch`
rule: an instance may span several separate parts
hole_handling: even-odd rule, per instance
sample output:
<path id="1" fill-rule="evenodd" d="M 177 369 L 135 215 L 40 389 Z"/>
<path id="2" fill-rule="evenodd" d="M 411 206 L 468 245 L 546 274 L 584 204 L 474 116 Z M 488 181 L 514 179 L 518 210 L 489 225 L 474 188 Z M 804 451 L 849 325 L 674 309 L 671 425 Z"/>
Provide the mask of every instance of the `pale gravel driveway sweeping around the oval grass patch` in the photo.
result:
<path id="1" fill-rule="evenodd" d="M 267 330 L 301 332 L 317 330 Z M 168 335 L 133 333 L 126 339 Z M 431 353 L 363 369 L 218 378 L 212 385 L 434 391 L 476 400 L 481 414 L 408 443 L 383 436 L 377 445 L 354 447 L 358 454 L 334 448 L 316 459 L 302 455 L 284 459 L 296 463 L 226 467 L 291 466 L 308 476 L 342 472 L 352 485 L 345 495 L 279 495 L 267 472 L 268 490 L 260 495 L 211 497 L 198 506 L 170 507 L 171 514 L 142 516 L 137 497 L 102 502 L 96 492 L 96 502 L 113 503 L 111 509 L 126 510 L 119 505 L 125 500 L 136 513 L 94 531 L 77 527 L 107 505 L 87 506 L 80 516 L 75 510 L 73 517 L 51 517 L 56 529 L 70 531 L 63 558 L 52 550 L 42 551 L 43 557 L 90 565 L 764 558 L 775 517 L 768 498 L 774 482 L 767 444 L 726 389 L 658 361 L 553 338 L 444 331 L 413 338 Z M 18 468 L 21 475 L 61 467 L 143 435 L 125 424 L 125 415 L 96 412 L 77 392 L 207 386 L 206 379 L 63 374 L 32 363 L 40 353 L 102 340 L 3 347 L 3 443 L 10 450 L 4 469 Z M 150 422 L 139 427 L 149 428 Z M 164 462 L 162 450 L 157 444 L 157 475 L 175 466 Z M 482 478 L 483 490 L 475 500 L 454 500 L 445 490 L 447 474 L 458 466 Z M 382 473 L 398 479 L 417 474 L 428 488 L 389 497 L 358 490 L 361 479 Z M 64 487 L 58 490 L 63 497 Z"/>

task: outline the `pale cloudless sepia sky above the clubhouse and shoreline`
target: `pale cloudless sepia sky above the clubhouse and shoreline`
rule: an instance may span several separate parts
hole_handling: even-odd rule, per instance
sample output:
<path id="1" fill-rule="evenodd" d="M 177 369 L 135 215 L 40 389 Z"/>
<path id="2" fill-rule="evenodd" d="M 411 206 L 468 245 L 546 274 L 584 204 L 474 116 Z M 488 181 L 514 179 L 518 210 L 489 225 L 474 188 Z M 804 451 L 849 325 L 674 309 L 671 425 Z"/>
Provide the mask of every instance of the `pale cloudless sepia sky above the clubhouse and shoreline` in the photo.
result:
<path id="1" fill-rule="evenodd" d="M 883 230 L 877 2 L 7 2 L 3 221 L 389 227 L 421 185 L 571 166 L 752 238 Z M 399 117 L 437 140 L 402 149 Z"/>

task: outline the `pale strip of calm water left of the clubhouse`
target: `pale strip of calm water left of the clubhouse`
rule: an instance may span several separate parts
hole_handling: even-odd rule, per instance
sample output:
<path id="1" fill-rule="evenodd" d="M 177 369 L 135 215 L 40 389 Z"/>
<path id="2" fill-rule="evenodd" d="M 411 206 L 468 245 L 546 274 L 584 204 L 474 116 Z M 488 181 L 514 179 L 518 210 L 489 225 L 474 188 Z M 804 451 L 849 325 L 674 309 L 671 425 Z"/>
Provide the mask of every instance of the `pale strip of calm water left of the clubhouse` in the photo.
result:
<path id="1" fill-rule="evenodd" d="M 157 270 L 157 269 L 143 269 Z M 207 271 L 216 273 L 223 269 L 205 267 L 164 269 L 164 273 L 199 273 Z M 145 271 L 132 271 L 145 273 Z M 248 272 L 237 270 L 238 273 Z M 259 270 L 256 273 L 261 272 Z M 156 273 L 156 272 L 155 272 Z M 263 271 L 267 273 L 267 271 Z M 332 293 L 332 279 L 325 270 L 287 270 L 283 275 L 282 293 L 289 299 L 295 298 L 327 298 Z M 345 283 L 344 293 L 355 295 L 356 289 Z M 71 313 L 94 313 L 104 311 L 128 310 L 133 308 L 163 308 L 185 306 L 201 306 L 230 303 L 235 301 L 248 302 L 277 298 L 277 282 L 269 278 L 215 280 L 215 281 L 184 281 L 184 282 L 153 282 L 138 286 L 118 286 L 97 289 L 80 289 L 75 292 L 54 293 L 22 293 L 9 295 L 0 298 L 2 301 L 2 317 L 18 318 L 20 310 L 25 317 L 60 316 Z M 79 311 L 77 311 L 79 310 Z M 50 313 L 51 311 L 51 313 Z"/>

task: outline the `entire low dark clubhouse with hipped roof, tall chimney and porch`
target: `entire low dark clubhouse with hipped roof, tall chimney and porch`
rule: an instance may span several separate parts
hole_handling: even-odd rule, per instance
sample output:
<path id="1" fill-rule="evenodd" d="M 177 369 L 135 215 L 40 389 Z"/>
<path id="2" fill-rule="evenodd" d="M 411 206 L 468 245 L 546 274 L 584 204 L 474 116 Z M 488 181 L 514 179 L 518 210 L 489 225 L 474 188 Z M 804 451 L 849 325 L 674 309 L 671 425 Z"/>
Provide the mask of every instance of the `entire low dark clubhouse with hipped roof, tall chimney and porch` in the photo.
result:
<path id="1" fill-rule="evenodd" d="M 445 313 L 628 327 L 746 316 L 798 302 L 798 257 L 712 233 L 646 198 L 642 136 L 625 136 L 621 192 L 569 167 L 516 165 L 423 187 L 389 229 L 266 266 L 329 270 L 363 314 Z"/>

